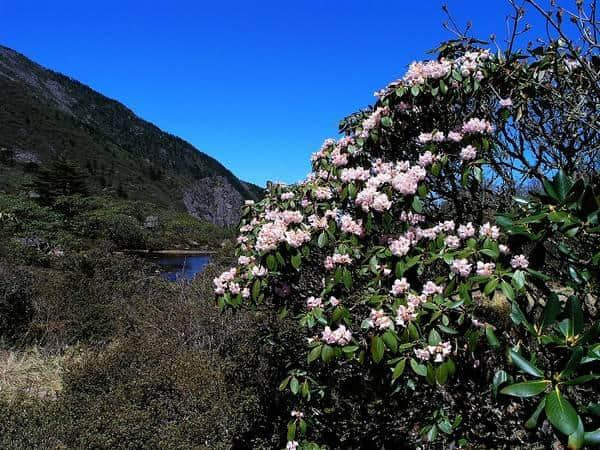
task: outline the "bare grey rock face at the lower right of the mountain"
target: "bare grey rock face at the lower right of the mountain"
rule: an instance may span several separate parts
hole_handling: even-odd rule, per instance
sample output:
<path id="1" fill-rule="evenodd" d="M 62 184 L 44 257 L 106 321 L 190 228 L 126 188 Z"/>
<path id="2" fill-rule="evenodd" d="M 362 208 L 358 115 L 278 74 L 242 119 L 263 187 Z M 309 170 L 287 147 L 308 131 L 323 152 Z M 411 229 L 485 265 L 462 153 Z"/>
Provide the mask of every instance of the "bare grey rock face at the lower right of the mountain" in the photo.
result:
<path id="1" fill-rule="evenodd" d="M 207 177 L 183 193 L 188 212 L 216 225 L 234 225 L 240 220 L 244 198 L 225 177 Z"/>

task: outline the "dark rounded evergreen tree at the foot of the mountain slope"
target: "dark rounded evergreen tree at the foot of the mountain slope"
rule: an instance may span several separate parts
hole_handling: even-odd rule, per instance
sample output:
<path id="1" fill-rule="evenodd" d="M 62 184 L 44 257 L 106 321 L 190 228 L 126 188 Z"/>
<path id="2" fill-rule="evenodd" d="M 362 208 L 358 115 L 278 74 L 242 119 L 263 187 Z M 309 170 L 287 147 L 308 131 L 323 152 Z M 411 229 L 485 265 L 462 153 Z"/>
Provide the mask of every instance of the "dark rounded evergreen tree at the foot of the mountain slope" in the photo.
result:
<path id="1" fill-rule="evenodd" d="M 88 192 L 85 174 L 77 163 L 62 155 L 40 169 L 32 188 L 44 203 L 52 203 L 60 196 L 86 195 Z"/>

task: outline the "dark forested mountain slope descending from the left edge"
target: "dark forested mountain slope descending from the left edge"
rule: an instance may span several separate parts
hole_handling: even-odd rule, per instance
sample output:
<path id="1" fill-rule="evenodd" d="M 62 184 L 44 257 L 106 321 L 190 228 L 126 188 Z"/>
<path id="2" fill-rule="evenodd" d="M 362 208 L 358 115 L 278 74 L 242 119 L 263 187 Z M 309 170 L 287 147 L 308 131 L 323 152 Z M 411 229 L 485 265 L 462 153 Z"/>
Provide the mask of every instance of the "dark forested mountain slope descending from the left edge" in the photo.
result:
<path id="1" fill-rule="evenodd" d="M 58 154 L 78 162 L 93 191 L 235 224 L 262 189 L 188 142 L 77 80 L 0 46 L 0 192 L 22 189 Z M 0 158 L 1 162 L 1 158 Z"/>

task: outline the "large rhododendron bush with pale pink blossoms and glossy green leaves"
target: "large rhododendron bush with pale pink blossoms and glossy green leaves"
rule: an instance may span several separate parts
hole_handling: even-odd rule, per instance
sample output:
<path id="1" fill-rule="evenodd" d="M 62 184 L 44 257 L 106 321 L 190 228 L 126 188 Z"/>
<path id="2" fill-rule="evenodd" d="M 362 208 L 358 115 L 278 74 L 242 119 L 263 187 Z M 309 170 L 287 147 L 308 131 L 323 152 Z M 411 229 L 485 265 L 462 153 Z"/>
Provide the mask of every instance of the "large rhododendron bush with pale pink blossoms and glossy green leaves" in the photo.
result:
<path id="1" fill-rule="evenodd" d="M 523 445 L 538 425 L 546 442 L 598 442 L 598 192 L 579 163 L 542 152 L 537 196 L 494 203 L 536 161 L 537 147 L 515 153 L 534 131 L 532 94 L 558 79 L 581 87 L 581 64 L 560 43 L 527 56 L 448 43 L 345 119 L 304 181 L 243 208 L 237 265 L 215 293 L 222 308 L 294 320 L 305 342 L 287 349 L 297 366 L 279 387 L 288 449 L 467 445 L 482 419 L 463 394 L 497 405 L 484 439 L 498 447 L 510 445 L 489 430 L 498 420 Z M 548 245 L 562 267 L 540 257 Z"/>

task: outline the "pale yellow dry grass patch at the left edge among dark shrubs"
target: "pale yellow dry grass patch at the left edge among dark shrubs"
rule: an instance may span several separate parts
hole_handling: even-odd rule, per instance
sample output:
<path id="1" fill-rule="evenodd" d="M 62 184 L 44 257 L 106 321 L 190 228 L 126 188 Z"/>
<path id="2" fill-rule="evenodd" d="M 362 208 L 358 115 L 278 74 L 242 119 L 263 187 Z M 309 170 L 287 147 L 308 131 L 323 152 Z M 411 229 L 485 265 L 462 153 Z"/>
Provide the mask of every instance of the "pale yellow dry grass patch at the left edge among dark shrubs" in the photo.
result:
<path id="1" fill-rule="evenodd" d="M 78 358 L 79 350 L 44 353 L 38 347 L 0 350 L 0 396 L 14 399 L 26 393 L 41 399 L 56 399 L 62 390 L 67 361 Z"/>

